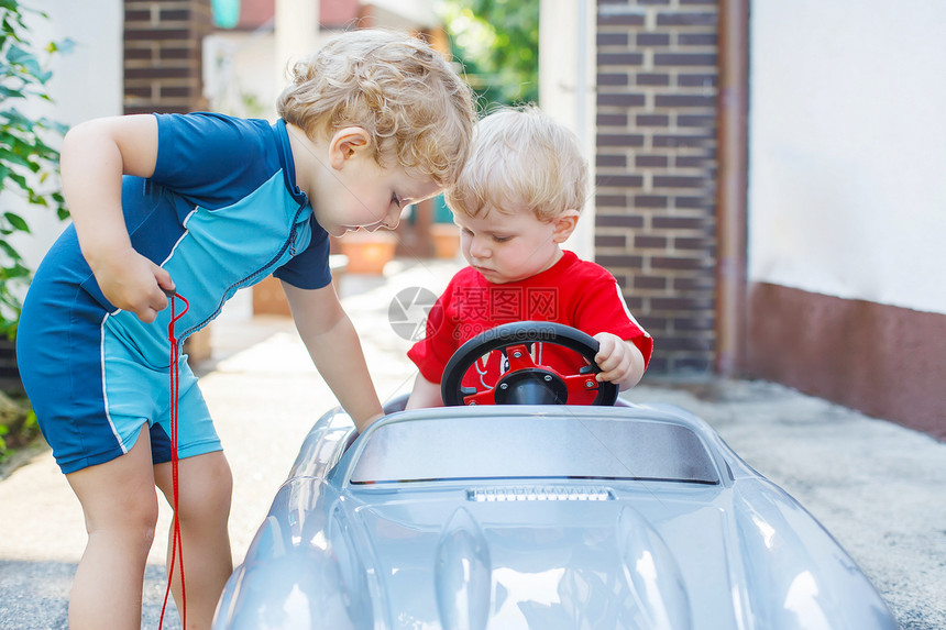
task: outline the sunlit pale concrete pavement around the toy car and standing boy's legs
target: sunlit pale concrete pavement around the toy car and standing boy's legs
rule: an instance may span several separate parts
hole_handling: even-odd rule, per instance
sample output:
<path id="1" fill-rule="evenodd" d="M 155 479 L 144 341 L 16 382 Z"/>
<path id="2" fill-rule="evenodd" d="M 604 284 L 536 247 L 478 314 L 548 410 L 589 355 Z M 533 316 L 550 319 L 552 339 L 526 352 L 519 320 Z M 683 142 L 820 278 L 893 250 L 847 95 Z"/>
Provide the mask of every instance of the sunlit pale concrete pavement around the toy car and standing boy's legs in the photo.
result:
<path id="1" fill-rule="evenodd" d="M 452 262 L 402 262 L 387 277 L 346 276 L 343 302 L 383 399 L 408 391 L 410 342 L 393 332 L 398 291 L 439 294 Z M 251 317 L 238 296 L 212 328 L 201 388 L 233 467 L 231 538 L 239 563 L 309 427 L 336 406 L 287 318 Z M 659 340 L 658 340 L 659 352 Z M 903 628 L 946 628 L 946 444 L 762 382 L 659 382 L 635 402 L 674 402 L 713 424 L 750 465 L 798 498 L 835 535 Z M 169 510 L 145 579 L 143 628 L 157 628 Z M 82 548 L 81 510 L 48 451 L 0 482 L 0 630 L 64 629 Z M 179 628 L 175 616 L 165 628 Z"/>

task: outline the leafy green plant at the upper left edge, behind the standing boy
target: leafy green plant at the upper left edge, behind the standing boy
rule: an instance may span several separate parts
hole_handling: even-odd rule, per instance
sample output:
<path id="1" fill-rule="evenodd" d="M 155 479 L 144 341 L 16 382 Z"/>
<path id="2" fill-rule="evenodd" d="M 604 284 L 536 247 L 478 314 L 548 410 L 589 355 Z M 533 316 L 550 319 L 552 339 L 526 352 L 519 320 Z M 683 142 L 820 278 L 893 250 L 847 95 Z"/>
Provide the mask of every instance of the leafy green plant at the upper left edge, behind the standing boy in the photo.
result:
<path id="1" fill-rule="evenodd" d="M 0 335 L 12 339 L 20 318 L 21 289 L 32 272 L 10 243 L 15 233 L 30 233 L 26 207 L 43 207 L 65 219 L 68 212 L 58 181 L 59 154 L 50 144 L 66 126 L 45 117 L 23 113 L 19 106 L 47 101 L 50 59 L 66 52 L 72 42 L 50 42 L 37 51 L 24 18 L 46 19 L 42 11 L 18 0 L 0 0 Z"/>

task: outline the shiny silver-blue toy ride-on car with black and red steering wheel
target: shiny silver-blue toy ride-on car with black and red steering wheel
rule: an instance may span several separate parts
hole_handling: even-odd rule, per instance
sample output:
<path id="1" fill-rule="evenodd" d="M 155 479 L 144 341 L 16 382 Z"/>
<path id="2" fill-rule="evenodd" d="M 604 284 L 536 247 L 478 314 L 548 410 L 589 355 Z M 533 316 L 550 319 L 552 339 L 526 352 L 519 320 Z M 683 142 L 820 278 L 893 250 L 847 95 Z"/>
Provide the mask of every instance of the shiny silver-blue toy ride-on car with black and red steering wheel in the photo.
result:
<path id="1" fill-rule="evenodd" d="M 539 344 L 588 367 L 548 367 Z M 462 386 L 490 352 L 509 371 Z M 568 405 L 602 385 L 595 352 L 568 327 L 508 324 L 457 352 L 453 406 L 392 410 L 356 439 L 343 411 L 323 416 L 213 628 L 898 627 L 831 534 L 706 422 L 616 406 L 606 384 Z"/>

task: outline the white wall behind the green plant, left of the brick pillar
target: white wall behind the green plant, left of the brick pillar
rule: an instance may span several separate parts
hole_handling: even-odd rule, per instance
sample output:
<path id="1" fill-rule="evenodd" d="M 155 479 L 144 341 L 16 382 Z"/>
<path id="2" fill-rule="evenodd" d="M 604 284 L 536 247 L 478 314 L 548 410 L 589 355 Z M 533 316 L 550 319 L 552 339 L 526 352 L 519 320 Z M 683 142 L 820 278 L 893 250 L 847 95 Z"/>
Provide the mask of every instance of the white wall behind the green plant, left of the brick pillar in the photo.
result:
<path id="1" fill-rule="evenodd" d="M 28 1 L 40 8 L 48 20 L 32 18 L 32 41 L 45 46 L 50 41 L 70 38 L 75 46 L 68 54 L 54 57 L 50 80 L 52 104 L 37 101 L 21 109 L 32 115 L 45 115 L 68 125 L 102 115 L 122 112 L 122 2 L 121 0 L 43 0 Z M 21 107 L 18 104 L 18 107 Z M 30 208 L 4 194 L 4 203 L 20 208 L 32 229 L 32 235 L 16 234 L 12 244 L 35 268 L 66 223 L 51 211 Z"/>

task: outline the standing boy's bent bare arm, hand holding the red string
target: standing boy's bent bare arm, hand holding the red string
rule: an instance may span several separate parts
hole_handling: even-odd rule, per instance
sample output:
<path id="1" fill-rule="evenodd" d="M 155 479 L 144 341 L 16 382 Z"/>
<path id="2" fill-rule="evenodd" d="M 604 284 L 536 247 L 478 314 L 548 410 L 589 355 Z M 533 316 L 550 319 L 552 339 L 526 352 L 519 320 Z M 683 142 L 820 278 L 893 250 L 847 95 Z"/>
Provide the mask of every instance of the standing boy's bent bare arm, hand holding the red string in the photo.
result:
<path id="1" fill-rule="evenodd" d="M 167 306 L 170 276 L 131 246 L 121 207 L 121 176 L 150 177 L 157 157 L 153 115 L 84 122 L 63 141 L 61 172 L 66 206 L 82 256 L 116 307 L 152 322 Z"/>

